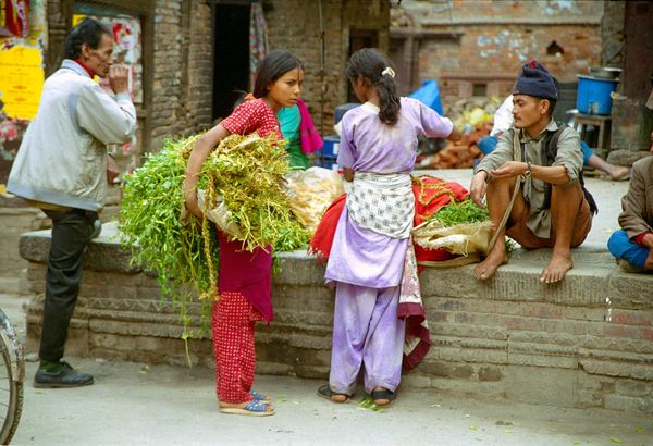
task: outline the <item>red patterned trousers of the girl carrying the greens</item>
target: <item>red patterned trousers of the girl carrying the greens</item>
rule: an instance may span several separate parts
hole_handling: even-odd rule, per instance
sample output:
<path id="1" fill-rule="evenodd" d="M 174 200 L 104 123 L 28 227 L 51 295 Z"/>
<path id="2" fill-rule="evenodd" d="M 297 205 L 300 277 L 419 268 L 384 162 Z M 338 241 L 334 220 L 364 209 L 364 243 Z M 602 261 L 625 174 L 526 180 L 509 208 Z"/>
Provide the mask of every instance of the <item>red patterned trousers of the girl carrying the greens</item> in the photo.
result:
<path id="1" fill-rule="evenodd" d="M 254 325 L 262 315 L 241 293 L 222 293 L 213 305 L 211 329 L 215 355 L 215 392 L 224 402 L 245 402 L 254 384 Z"/>

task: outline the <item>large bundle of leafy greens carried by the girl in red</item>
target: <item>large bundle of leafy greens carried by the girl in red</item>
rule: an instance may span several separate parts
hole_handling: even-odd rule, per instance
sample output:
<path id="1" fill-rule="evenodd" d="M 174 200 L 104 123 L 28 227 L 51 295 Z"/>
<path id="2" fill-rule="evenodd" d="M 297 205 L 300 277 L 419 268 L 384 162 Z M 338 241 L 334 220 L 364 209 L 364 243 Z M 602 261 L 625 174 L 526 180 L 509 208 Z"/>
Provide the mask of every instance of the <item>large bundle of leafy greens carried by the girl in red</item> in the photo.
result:
<path id="1" fill-rule="evenodd" d="M 200 306 L 202 334 L 218 299 L 219 247 L 206 218 L 215 197 L 227 205 L 245 250 L 267 246 L 295 250 L 306 247 L 309 238 L 281 187 L 288 172 L 285 149 L 258 135 L 231 135 L 211 152 L 198 178 L 198 187 L 206 190 L 205 218 L 182 223 L 185 170 L 197 138 L 165 140 L 159 152 L 148 154 L 143 166 L 126 176 L 119 222 L 121 241 L 133 262 L 156 272 L 162 299 L 171 298 L 178 307 L 186 337 L 189 307 Z"/>

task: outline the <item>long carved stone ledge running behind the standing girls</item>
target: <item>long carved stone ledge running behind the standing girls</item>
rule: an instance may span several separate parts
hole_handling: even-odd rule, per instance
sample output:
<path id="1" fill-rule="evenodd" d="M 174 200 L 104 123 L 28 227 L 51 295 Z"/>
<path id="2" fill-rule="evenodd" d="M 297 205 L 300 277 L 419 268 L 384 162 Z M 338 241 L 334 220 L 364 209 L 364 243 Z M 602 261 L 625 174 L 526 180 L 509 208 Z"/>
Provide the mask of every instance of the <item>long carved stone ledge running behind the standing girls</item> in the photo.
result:
<path id="1" fill-rule="evenodd" d="M 42 313 L 49 232 L 24 234 L 27 350 L 35 351 Z M 90 244 L 66 352 L 212 367 L 210 338 L 180 339 L 182 327 L 156 281 L 128 267 L 114 225 Z M 576 268 L 556 285 L 541 284 L 545 251 L 517 251 L 494 278 L 471 265 L 421 275 L 432 347 L 403 385 L 455 389 L 564 407 L 653 413 L 653 277 L 625 274 L 601 247 L 574 251 Z M 325 379 L 331 356 L 333 290 L 324 265 L 305 252 L 280 255 L 275 320 L 260 324 L 257 372 Z M 40 294 L 40 295 L 39 295 Z M 199 329 L 190 306 L 190 330 Z"/>

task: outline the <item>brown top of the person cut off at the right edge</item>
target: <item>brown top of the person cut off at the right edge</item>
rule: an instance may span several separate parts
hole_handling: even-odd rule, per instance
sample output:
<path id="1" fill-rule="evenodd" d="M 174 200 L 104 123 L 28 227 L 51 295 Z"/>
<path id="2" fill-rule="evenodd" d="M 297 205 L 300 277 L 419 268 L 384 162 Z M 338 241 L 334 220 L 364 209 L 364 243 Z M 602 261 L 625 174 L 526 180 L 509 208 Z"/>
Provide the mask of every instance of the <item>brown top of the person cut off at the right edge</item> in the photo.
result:
<path id="1" fill-rule="evenodd" d="M 628 193 L 621 198 L 619 226 L 628 238 L 653 232 L 653 157 L 632 164 Z"/>

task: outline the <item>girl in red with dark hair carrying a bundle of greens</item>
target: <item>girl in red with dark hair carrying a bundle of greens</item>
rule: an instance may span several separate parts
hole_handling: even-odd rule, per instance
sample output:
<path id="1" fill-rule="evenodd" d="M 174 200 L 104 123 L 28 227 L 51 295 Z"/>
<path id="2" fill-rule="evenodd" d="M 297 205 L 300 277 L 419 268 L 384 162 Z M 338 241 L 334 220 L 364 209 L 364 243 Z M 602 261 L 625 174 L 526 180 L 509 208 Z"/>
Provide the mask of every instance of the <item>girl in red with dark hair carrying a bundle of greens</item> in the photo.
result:
<path id="1" fill-rule="evenodd" d="M 201 218 L 197 205 L 197 179 L 209 153 L 226 136 L 254 132 L 262 137 L 274 134 L 282 139 L 276 113 L 293 107 L 304 83 L 301 61 L 286 51 L 272 51 L 259 63 L 254 100 L 234 112 L 197 139 L 186 168 L 186 208 Z M 242 251 L 241 243 L 230 241 L 218 232 L 220 267 L 218 294 L 211 326 L 215 355 L 215 381 L 220 411 L 248 416 L 271 416 L 270 398 L 251 389 L 256 363 L 254 326 L 273 318 L 272 247 Z"/>

